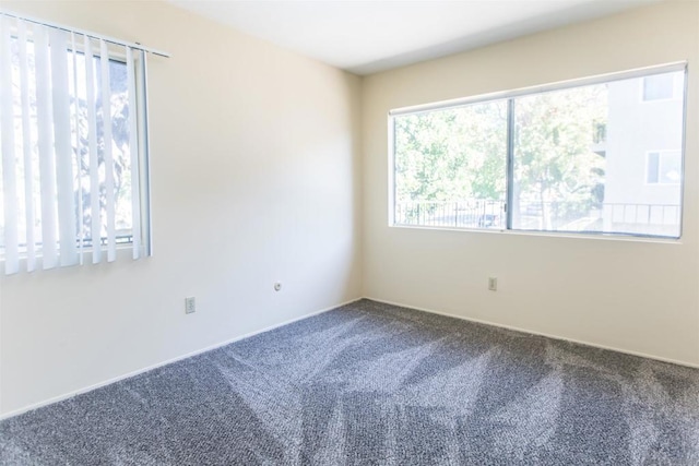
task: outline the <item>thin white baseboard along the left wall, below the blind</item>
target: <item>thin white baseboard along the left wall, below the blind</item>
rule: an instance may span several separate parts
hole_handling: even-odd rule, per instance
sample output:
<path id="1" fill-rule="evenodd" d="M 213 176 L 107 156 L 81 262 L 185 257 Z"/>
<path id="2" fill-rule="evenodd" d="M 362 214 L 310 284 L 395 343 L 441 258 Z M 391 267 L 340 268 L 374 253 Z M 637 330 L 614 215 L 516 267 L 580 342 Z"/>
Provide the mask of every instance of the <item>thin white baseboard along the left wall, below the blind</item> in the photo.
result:
<path id="1" fill-rule="evenodd" d="M 43 406 L 52 405 L 54 403 L 62 402 L 64 399 L 72 398 L 73 396 L 81 395 L 83 393 L 92 392 L 93 390 L 97 390 L 99 387 L 103 387 L 103 386 L 106 386 L 106 385 L 110 385 L 110 384 L 112 384 L 115 382 L 119 382 L 119 381 L 122 381 L 122 380 L 126 380 L 126 379 L 130 379 L 130 378 L 132 378 L 134 375 L 139 375 L 139 374 L 141 374 L 143 372 L 147 372 L 147 371 L 151 371 L 153 369 L 162 368 L 164 366 L 171 365 L 173 362 L 181 361 L 183 359 L 191 358 L 192 356 L 198 356 L 198 355 L 201 355 L 202 353 L 211 351 L 212 349 L 221 348 L 222 346 L 229 345 L 229 344 L 238 342 L 240 339 L 249 338 L 251 336 L 254 336 L 254 335 L 258 335 L 258 334 L 261 334 L 261 333 L 264 333 L 264 332 L 269 332 L 271 330 L 274 330 L 274 328 L 277 328 L 277 327 L 281 327 L 281 326 L 284 326 L 284 325 L 292 324 L 294 322 L 303 321 L 304 319 L 312 318 L 313 315 L 322 314 L 323 312 L 332 311 L 333 309 L 337 309 L 337 308 L 340 308 L 342 306 L 346 306 L 346 304 L 350 304 L 352 302 L 359 301 L 360 299 L 364 299 L 364 298 L 356 298 L 356 299 L 352 299 L 350 301 L 341 302 L 339 304 L 334 304 L 334 306 L 331 306 L 329 308 L 321 309 L 319 311 L 313 311 L 313 312 L 310 312 L 308 314 L 304 314 L 304 315 L 301 315 L 299 318 L 291 319 L 288 321 L 284 321 L 284 322 L 279 323 L 279 324 L 271 325 L 271 326 L 264 327 L 262 330 L 258 330 L 258 331 L 254 331 L 254 332 L 246 333 L 245 335 L 236 336 L 235 338 L 230 338 L 230 339 L 227 339 L 225 342 L 221 342 L 221 343 L 216 343 L 214 345 L 206 346 L 205 348 L 202 348 L 202 349 L 197 349 L 196 351 L 191 351 L 191 353 L 188 353 L 188 354 L 182 355 L 182 356 L 177 356 L 175 358 L 165 360 L 163 362 L 158 362 L 158 363 L 155 363 L 155 365 L 152 365 L 152 366 L 147 366 L 145 368 L 137 369 L 137 370 L 128 372 L 128 373 L 126 373 L 123 375 L 118 375 L 118 377 L 105 380 L 103 382 L 98 382 L 98 383 L 85 386 L 83 389 L 73 390 L 73 391 L 70 391 L 68 393 L 63 393 L 62 395 L 54 396 L 54 397 L 45 399 L 43 402 L 34 403 L 32 405 L 28 405 L 28 406 L 12 410 L 10 413 L 5 413 L 3 415 L 0 415 L 0 420 L 8 419 L 8 418 L 11 418 L 11 417 L 14 417 L 14 416 L 19 416 L 19 415 L 21 415 L 23 413 L 27 413 L 27 411 L 40 408 Z"/>

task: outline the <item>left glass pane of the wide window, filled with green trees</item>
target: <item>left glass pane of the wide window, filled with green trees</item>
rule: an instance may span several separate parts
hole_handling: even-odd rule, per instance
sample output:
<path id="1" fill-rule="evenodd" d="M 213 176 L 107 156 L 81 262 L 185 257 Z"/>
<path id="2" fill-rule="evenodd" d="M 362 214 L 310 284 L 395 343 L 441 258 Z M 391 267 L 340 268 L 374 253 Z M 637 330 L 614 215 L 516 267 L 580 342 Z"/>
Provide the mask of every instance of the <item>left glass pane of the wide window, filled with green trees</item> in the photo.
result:
<path id="1" fill-rule="evenodd" d="M 393 122 L 396 225 L 505 228 L 506 100 Z"/>

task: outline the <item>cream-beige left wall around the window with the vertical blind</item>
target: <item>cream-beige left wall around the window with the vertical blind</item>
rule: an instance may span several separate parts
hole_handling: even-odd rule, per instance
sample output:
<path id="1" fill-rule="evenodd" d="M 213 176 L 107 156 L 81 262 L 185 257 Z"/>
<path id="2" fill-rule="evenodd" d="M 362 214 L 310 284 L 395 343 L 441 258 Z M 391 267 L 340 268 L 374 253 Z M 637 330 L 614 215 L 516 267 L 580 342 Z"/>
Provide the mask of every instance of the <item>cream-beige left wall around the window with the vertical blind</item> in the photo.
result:
<path id="1" fill-rule="evenodd" d="M 173 55 L 149 63 L 155 255 L 0 278 L 1 414 L 360 296 L 358 77 L 164 2 L 0 7 Z"/>

